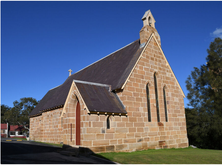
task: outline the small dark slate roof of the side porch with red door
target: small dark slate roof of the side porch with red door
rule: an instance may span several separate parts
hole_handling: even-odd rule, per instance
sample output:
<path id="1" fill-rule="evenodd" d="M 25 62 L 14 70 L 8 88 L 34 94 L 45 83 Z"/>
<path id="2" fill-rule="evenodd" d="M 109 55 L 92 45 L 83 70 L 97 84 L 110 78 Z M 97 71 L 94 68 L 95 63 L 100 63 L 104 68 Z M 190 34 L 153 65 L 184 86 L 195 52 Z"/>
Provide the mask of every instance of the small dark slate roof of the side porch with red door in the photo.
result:
<path id="1" fill-rule="evenodd" d="M 90 113 L 127 114 L 118 96 L 109 85 L 74 80 Z"/>

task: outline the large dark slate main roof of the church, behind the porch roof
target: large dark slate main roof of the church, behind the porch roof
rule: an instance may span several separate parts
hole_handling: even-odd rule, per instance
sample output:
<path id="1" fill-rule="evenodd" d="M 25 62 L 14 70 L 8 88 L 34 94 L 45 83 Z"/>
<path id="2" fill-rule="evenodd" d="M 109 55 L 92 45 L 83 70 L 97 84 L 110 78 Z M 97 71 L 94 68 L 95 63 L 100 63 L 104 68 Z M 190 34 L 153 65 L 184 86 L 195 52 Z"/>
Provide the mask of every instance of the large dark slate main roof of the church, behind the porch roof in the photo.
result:
<path id="1" fill-rule="evenodd" d="M 69 76 L 62 85 L 49 90 L 29 116 L 64 106 L 73 80 L 108 84 L 112 91 L 121 89 L 143 48 L 138 39 Z"/>

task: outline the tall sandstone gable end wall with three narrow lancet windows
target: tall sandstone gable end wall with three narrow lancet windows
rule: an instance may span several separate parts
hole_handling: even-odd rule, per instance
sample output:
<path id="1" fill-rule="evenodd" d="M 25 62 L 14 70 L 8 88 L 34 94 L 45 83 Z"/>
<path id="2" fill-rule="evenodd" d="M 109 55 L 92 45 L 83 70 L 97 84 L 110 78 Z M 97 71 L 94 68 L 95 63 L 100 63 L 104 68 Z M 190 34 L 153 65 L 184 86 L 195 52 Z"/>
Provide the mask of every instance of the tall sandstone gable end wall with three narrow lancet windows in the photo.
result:
<path id="1" fill-rule="evenodd" d="M 160 123 L 157 122 L 154 73 L 157 73 Z M 151 122 L 148 122 L 146 85 L 149 83 Z M 168 122 L 165 120 L 163 87 L 166 86 Z M 167 65 L 154 38 L 118 96 L 126 106 L 134 137 L 148 138 L 148 148 L 187 147 L 186 119 L 183 93 L 181 93 L 170 67 Z M 141 134 L 140 134 L 141 133 Z M 141 135 L 147 134 L 148 137 Z"/>

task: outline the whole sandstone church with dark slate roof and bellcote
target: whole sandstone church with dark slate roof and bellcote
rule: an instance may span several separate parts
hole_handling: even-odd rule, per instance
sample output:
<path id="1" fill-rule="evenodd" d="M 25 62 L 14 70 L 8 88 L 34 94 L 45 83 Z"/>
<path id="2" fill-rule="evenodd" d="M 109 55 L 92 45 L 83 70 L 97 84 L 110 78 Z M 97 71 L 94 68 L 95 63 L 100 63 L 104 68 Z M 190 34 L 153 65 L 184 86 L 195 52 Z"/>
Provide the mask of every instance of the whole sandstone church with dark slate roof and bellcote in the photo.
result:
<path id="1" fill-rule="evenodd" d="M 30 113 L 30 139 L 94 152 L 188 147 L 184 93 L 155 19 L 140 38 L 69 75 Z"/>

